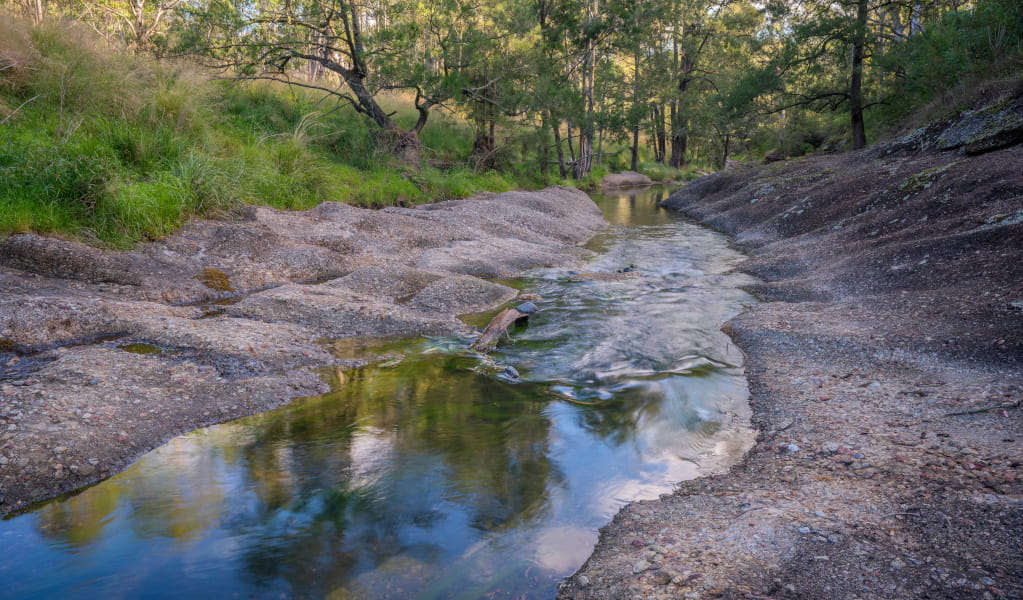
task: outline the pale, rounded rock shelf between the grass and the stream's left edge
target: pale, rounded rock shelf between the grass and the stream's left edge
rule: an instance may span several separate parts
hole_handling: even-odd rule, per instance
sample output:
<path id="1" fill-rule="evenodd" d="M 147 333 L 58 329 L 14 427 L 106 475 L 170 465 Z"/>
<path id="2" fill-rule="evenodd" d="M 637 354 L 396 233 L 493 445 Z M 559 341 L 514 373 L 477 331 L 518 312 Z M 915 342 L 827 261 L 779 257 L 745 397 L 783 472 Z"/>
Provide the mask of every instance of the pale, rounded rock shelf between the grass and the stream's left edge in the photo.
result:
<path id="1" fill-rule="evenodd" d="M 327 202 L 195 221 L 106 251 L 0 243 L 0 514 L 124 469 L 197 427 L 326 390 L 324 339 L 468 330 L 488 279 L 568 265 L 606 225 L 551 187 L 414 209 Z M 488 278 L 488 279 L 484 279 Z"/>

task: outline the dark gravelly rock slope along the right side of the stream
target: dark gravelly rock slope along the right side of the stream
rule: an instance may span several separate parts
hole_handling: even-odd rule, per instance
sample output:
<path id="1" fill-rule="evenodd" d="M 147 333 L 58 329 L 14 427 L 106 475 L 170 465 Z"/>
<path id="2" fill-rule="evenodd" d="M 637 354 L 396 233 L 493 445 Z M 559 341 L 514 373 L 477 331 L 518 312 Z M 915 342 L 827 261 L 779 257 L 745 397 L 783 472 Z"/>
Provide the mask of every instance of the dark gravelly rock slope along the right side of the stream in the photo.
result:
<path id="1" fill-rule="evenodd" d="M 1023 597 L 1020 108 L 664 202 L 764 281 L 726 325 L 760 434 L 619 512 L 560 597 Z"/>

